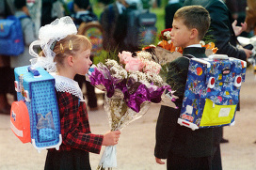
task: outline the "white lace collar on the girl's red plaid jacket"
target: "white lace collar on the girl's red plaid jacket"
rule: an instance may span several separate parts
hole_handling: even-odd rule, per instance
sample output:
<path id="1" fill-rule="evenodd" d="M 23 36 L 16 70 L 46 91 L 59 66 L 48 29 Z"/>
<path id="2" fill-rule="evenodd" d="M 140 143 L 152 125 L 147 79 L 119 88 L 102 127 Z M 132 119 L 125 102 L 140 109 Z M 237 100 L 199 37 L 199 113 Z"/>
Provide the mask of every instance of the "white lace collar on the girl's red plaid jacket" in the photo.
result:
<path id="1" fill-rule="evenodd" d="M 55 75 L 55 74 L 52 74 L 52 75 L 56 79 L 56 91 L 70 93 L 76 96 L 77 98 L 79 98 L 80 101 L 85 101 L 83 98 L 82 90 L 79 87 L 77 82 L 75 82 L 74 80 L 68 77 Z"/>

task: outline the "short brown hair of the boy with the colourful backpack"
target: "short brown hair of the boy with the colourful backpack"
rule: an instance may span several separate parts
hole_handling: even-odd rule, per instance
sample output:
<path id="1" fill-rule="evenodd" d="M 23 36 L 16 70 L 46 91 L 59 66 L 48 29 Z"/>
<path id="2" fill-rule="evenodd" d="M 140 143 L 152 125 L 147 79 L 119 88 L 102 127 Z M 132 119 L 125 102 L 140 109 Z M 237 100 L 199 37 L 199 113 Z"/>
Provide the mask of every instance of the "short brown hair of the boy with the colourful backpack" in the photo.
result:
<path id="1" fill-rule="evenodd" d="M 199 31 L 199 39 L 204 37 L 211 23 L 209 12 L 201 6 L 179 8 L 173 19 L 182 19 L 188 29 L 196 28 Z"/>

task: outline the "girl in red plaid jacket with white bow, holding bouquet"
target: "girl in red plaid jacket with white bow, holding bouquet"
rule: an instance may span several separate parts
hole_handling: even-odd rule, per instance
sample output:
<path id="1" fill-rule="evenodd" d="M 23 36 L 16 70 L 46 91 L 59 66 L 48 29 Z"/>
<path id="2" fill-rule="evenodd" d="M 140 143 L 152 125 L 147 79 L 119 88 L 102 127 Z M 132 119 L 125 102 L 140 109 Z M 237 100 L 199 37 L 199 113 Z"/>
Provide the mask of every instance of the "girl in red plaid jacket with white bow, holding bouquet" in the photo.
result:
<path id="1" fill-rule="evenodd" d="M 61 23 L 61 21 L 71 20 L 69 17 L 65 18 L 65 20 L 60 19 L 59 21 L 57 19 L 57 21 Z M 53 27 L 46 25 L 45 28 L 48 29 L 46 32 L 56 37 L 56 34 L 53 33 L 55 33 L 57 24 L 55 22 Z M 72 24 L 68 22 L 68 26 L 62 27 L 61 31 L 65 32 L 65 29 L 69 29 Z M 100 153 L 102 146 L 118 144 L 120 131 L 110 131 L 104 135 L 90 132 L 87 106 L 82 91 L 73 78 L 75 74 L 85 75 L 88 73 L 88 68 L 92 64 L 89 59 L 91 43 L 84 36 L 75 35 L 76 33 L 70 34 L 69 31 L 66 33 L 68 35 L 64 36 L 65 38 L 62 37 L 63 35 L 58 39 L 55 38 L 53 44 L 49 41 L 44 45 L 40 44 L 46 58 L 52 57 L 45 50 L 48 49 L 47 46 L 51 45 L 50 49 L 53 52 L 51 55 L 55 55 L 54 62 L 51 64 L 56 63 L 54 77 L 56 78 L 56 98 L 63 141 L 59 150 L 54 148 L 48 150 L 44 169 L 88 170 L 91 169 L 88 152 Z M 42 35 L 47 35 L 43 34 L 43 29 L 40 31 L 40 37 Z"/>

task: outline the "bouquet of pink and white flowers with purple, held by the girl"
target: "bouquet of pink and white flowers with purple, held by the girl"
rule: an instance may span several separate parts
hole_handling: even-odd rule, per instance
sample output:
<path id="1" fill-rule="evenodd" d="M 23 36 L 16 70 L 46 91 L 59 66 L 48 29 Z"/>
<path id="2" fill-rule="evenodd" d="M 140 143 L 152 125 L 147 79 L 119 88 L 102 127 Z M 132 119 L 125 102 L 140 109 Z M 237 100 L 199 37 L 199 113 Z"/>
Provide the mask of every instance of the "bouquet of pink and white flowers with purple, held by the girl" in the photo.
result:
<path id="1" fill-rule="evenodd" d="M 176 107 L 173 92 L 158 75 L 161 66 L 153 61 L 152 54 L 141 51 L 135 57 L 122 52 L 119 58 L 120 63 L 106 59 L 88 75 L 91 85 L 105 91 L 104 110 L 111 131 L 121 131 L 143 116 L 152 102 Z M 116 166 L 116 146 L 105 147 L 98 169 Z"/>

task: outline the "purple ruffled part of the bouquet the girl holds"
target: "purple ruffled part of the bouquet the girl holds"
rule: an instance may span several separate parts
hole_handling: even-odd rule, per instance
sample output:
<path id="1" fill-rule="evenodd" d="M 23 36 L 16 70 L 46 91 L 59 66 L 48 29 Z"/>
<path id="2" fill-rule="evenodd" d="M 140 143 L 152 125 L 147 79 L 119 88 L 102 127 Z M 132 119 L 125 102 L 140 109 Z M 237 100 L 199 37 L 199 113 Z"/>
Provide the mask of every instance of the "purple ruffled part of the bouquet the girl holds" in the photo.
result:
<path id="1" fill-rule="evenodd" d="M 106 96 L 111 98 L 116 89 L 123 93 L 123 99 L 127 106 L 136 113 L 140 111 L 140 106 L 145 101 L 159 103 L 165 90 L 170 90 L 169 85 L 156 86 L 153 83 L 149 86 L 131 79 L 117 80 L 111 75 L 110 70 L 103 64 L 98 64 L 97 68 L 89 75 L 91 85 L 101 87 L 106 91 Z"/>

